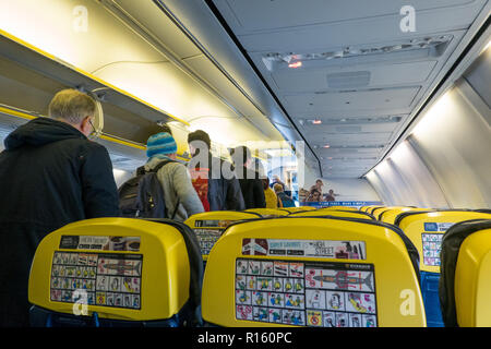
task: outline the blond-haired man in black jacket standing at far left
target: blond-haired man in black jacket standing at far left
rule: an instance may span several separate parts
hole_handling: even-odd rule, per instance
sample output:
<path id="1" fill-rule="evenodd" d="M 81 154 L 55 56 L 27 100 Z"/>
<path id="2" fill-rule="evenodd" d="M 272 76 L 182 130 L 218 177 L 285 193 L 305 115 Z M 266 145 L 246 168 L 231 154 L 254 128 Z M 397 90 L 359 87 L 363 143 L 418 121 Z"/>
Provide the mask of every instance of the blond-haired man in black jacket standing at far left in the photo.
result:
<path id="1" fill-rule="evenodd" d="M 13 131 L 0 153 L 0 327 L 28 326 L 27 284 L 40 240 L 72 221 L 119 216 L 107 149 L 87 140 L 96 103 L 56 94 L 49 118 Z"/>

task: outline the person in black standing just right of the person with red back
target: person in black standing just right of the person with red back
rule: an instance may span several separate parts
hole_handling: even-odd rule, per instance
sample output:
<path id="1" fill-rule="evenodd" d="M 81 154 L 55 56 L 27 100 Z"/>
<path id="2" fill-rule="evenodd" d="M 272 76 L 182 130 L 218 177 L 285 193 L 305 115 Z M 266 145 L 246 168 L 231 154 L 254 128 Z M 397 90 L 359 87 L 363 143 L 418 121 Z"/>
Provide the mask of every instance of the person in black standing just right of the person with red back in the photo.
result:
<path id="1" fill-rule="evenodd" d="M 252 163 L 251 151 L 247 146 L 231 149 L 230 155 L 236 165 L 236 173 L 242 191 L 246 209 L 265 208 L 263 182 L 256 171 L 249 168 Z"/>

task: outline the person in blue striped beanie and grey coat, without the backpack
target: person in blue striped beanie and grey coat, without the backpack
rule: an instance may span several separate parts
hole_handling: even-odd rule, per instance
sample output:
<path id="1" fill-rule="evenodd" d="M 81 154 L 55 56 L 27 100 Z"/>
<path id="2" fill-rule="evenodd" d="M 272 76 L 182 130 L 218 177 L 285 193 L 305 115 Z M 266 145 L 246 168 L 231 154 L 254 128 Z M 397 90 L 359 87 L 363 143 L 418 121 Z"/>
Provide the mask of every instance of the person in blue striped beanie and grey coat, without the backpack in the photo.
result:
<path id="1" fill-rule="evenodd" d="M 176 160 L 175 139 L 168 132 L 151 135 L 146 142 L 146 171 L 151 171 L 161 161 Z M 204 212 L 184 165 L 178 161 L 166 164 L 158 170 L 157 178 L 164 190 L 167 215 L 176 213 L 172 219 L 184 221 L 188 217 Z"/>

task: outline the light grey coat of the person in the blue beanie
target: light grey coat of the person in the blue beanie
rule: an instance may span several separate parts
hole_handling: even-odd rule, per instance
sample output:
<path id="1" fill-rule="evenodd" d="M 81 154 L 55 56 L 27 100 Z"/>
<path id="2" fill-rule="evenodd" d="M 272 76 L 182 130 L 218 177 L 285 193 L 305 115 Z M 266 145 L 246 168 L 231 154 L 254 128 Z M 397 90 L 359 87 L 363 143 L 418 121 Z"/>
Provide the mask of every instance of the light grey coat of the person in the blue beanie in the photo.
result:
<path id="1" fill-rule="evenodd" d="M 152 157 L 146 163 L 145 170 L 155 168 L 166 158 L 161 155 Z M 164 190 L 168 215 L 173 213 L 179 198 L 180 204 L 175 220 L 184 221 L 188 217 L 204 212 L 203 204 L 191 183 L 191 176 L 184 165 L 180 163 L 167 164 L 158 170 L 157 178 Z"/>

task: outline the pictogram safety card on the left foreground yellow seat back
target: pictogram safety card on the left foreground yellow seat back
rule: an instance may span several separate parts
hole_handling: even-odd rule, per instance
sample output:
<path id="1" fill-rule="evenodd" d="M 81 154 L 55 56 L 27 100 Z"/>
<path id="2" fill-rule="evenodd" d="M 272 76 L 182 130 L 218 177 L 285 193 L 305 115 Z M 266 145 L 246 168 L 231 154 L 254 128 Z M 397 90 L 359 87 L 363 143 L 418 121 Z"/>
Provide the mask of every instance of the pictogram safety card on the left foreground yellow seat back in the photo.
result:
<path id="1" fill-rule="evenodd" d="M 51 301 L 74 303 L 86 294 L 88 305 L 140 310 L 142 262 L 141 254 L 55 252 Z"/>

